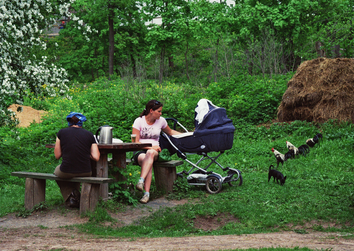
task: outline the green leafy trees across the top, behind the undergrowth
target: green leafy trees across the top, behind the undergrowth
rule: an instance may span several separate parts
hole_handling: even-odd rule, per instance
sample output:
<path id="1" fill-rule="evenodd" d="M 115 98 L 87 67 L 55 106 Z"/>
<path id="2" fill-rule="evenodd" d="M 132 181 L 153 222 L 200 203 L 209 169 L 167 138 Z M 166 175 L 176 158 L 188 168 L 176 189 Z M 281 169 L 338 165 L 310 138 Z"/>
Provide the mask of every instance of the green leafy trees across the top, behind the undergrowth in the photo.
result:
<path id="1" fill-rule="evenodd" d="M 107 76 L 109 6 L 114 72 L 129 82 L 172 77 L 206 85 L 239 71 L 273 76 L 319 56 L 354 55 L 349 0 L 76 0 L 77 15 L 98 32 L 86 41 L 69 22 L 47 40 L 47 53 L 75 80 Z"/>

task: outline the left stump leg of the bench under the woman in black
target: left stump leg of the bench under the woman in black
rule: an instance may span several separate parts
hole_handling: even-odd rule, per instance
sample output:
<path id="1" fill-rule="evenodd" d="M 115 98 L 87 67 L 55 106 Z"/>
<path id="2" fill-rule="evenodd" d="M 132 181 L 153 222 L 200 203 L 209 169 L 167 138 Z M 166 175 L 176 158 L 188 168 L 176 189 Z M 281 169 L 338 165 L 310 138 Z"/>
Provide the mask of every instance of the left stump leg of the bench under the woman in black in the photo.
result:
<path id="1" fill-rule="evenodd" d="M 31 210 L 35 205 L 45 201 L 45 184 L 44 179 L 26 178 L 24 207 Z"/>

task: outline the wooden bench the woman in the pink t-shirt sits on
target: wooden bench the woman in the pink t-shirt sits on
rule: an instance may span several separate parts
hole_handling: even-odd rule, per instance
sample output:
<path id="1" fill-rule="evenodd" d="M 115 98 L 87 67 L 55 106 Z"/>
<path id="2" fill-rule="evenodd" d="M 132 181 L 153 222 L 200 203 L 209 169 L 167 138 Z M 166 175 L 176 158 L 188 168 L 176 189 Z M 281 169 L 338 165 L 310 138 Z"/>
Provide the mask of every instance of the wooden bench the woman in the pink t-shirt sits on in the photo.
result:
<path id="1" fill-rule="evenodd" d="M 108 158 L 108 162 L 112 158 Z M 138 165 L 138 163 L 126 159 L 127 164 Z M 156 190 L 169 194 L 173 191 L 173 183 L 177 179 L 176 167 L 182 165 L 182 160 L 171 160 L 168 162 L 154 162 L 153 170 L 155 177 Z"/>

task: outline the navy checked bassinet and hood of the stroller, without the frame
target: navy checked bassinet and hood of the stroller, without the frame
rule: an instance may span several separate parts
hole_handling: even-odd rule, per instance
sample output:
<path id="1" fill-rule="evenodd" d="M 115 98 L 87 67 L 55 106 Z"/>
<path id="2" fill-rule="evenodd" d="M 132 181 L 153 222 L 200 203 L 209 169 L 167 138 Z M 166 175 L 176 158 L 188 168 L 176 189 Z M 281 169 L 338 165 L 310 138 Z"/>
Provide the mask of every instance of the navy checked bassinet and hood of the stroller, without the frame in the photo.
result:
<path id="1" fill-rule="evenodd" d="M 172 144 L 174 144 L 179 151 L 207 153 L 224 151 L 232 148 L 235 131 L 232 120 L 227 117 L 224 108 L 217 107 L 210 103 L 211 101 L 207 100 L 209 112 L 206 113 L 200 123 L 196 119 L 198 113 L 194 113 L 195 129 L 193 134 L 187 133 L 188 136 L 183 136 L 181 138 L 176 138 L 178 135 L 169 136 Z M 161 149 L 167 148 L 171 155 L 177 152 L 166 139 L 165 135 L 160 136 L 159 142 Z"/>

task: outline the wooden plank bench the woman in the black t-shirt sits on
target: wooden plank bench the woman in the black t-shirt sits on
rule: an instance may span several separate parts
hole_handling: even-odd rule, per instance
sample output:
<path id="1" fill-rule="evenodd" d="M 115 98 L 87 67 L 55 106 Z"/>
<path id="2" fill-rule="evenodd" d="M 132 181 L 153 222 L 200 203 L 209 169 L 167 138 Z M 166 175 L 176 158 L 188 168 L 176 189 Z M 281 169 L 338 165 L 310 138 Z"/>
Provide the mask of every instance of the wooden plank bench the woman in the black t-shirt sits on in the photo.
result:
<path id="1" fill-rule="evenodd" d="M 24 206 L 30 210 L 33 206 L 45 201 L 46 180 L 62 180 L 81 182 L 80 214 L 86 211 L 93 212 L 98 202 L 98 192 L 101 184 L 113 182 L 113 179 L 100 177 L 77 177 L 62 179 L 54 174 L 12 172 L 12 176 L 26 178 Z"/>

